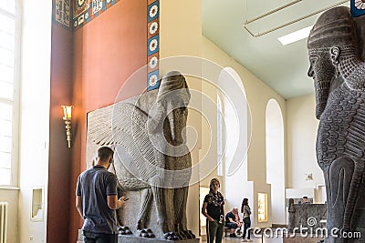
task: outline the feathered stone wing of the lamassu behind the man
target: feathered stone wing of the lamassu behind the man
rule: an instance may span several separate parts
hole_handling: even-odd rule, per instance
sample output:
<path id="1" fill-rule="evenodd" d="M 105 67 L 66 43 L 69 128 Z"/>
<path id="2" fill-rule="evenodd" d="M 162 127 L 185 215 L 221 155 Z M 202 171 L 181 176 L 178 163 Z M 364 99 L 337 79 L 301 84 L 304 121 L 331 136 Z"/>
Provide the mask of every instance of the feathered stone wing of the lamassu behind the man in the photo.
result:
<path id="1" fill-rule="evenodd" d="M 138 106 L 120 102 L 91 112 L 88 119 L 89 139 L 99 146 L 123 147 L 116 151 L 129 154 L 131 159 L 119 157 L 134 177 L 148 182 L 156 176 L 157 168 L 164 167 L 162 153 L 155 149 L 146 130 L 148 115 Z"/>

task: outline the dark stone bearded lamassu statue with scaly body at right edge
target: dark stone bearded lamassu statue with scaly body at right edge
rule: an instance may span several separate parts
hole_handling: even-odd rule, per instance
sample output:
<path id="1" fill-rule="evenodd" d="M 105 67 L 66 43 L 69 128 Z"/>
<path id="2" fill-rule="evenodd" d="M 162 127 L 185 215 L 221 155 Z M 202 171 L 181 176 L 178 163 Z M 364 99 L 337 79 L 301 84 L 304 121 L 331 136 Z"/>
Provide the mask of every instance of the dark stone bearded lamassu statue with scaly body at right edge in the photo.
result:
<path id="1" fill-rule="evenodd" d="M 308 37 L 308 55 L 320 120 L 317 158 L 327 189 L 326 242 L 364 242 L 348 238 L 355 231 L 365 233 L 365 63 L 348 7 L 318 17 Z M 331 236 L 333 228 L 343 238 Z"/>

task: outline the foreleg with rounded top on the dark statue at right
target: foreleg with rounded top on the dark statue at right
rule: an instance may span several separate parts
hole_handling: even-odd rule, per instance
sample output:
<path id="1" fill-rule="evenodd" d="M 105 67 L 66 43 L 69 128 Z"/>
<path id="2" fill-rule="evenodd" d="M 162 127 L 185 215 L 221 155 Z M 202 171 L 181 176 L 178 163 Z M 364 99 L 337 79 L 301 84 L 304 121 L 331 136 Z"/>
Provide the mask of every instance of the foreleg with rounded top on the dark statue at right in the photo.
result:
<path id="1" fill-rule="evenodd" d="M 349 187 L 354 171 L 354 163 L 349 157 L 335 159 L 329 168 L 323 170 L 327 190 L 327 243 L 342 243 L 343 238 L 336 238 L 330 234 L 334 229 L 343 228 Z M 340 234 L 339 230 L 336 234 Z"/>

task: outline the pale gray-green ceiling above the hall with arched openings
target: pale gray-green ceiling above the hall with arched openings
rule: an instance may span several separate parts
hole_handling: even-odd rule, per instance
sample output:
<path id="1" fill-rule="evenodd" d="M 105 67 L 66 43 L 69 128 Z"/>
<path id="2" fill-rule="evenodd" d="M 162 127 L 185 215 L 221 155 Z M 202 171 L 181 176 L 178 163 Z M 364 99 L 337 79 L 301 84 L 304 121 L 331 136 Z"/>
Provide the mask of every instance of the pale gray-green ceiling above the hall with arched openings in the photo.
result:
<path id="1" fill-rule="evenodd" d="M 254 35 L 264 33 L 343 1 L 202 0 L 203 35 L 285 98 L 312 94 L 313 80 L 307 76 L 307 38 L 287 46 L 277 38 L 313 25 L 320 14 L 258 37 L 250 35 L 244 23 L 293 2 L 246 27 Z"/>

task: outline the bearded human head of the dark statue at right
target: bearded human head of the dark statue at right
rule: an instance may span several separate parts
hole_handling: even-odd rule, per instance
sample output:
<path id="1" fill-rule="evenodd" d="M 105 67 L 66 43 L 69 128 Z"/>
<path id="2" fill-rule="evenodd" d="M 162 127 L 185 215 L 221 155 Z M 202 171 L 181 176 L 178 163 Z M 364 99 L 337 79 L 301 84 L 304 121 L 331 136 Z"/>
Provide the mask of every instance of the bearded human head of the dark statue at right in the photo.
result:
<path id="1" fill-rule="evenodd" d="M 327 105 L 331 81 L 337 76 L 339 55 L 354 49 L 355 27 L 349 7 L 334 7 L 318 17 L 308 36 L 308 76 L 314 79 L 317 118 Z"/>

